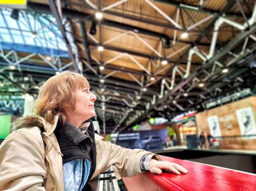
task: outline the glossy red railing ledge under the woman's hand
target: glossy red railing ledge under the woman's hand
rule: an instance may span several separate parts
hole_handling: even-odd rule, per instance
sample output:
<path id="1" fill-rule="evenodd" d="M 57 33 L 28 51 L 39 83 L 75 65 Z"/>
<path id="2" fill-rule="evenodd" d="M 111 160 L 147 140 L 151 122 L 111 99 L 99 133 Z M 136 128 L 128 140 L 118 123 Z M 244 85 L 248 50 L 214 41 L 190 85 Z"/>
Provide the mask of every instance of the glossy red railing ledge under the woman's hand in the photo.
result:
<path id="1" fill-rule="evenodd" d="M 189 190 L 189 191 L 253 191 L 256 190 L 256 174 L 221 168 L 219 166 L 190 162 L 163 156 L 164 160 L 184 166 L 189 173 L 175 175 L 163 172 L 162 175 L 144 174 L 123 178 L 129 191 L 146 190 Z M 241 163 L 243 163 L 241 161 Z M 239 164 L 237 164 L 239 165 Z"/>

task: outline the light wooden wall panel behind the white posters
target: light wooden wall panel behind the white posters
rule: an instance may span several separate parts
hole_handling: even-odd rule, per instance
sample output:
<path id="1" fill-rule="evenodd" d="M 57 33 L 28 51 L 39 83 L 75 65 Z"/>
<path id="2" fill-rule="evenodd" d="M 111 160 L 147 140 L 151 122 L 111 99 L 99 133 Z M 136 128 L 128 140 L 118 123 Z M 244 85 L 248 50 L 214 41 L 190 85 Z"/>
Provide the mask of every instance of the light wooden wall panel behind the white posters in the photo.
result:
<path id="1" fill-rule="evenodd" d="M 208 118 L 217 116 L 221 136 L 242 135 L 243 133 L 241 132 L 236 112 L 237 110 L 244 108 L 252 109 L 254 124 L 256 124 L 256 97 L 252 96 L 198 113 L 196 115 L 198 134 L 201 132 L 204 132 L 205 134 L 211 132 Z M 254 128 L 256 127 L 254 126 Z M 220 141 L 220 148 L 256 150 L 256 136 L 253 138 L 224 138 Z"/>

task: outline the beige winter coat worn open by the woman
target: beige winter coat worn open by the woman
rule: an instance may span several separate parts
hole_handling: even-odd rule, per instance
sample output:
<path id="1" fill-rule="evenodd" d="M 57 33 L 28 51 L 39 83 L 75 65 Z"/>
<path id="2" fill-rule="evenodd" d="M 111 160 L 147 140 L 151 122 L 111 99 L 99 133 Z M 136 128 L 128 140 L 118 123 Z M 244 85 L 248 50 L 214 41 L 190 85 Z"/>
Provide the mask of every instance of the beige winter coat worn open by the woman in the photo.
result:
<path id="1" fill-rule="evenodd" d="M 38 127 L 20 128 L 11 133 L 0 146 L 0 190 L 56 190 L 63 191 L 62 154 L 55 135 L 58 122 L 45 122 L 44 143 Z M 144 150 L 129 150 L 103 141 L 95 134 L 96 169 L 92 179 L 114 164 L 120 178 L 141 172 L 140 159 L 150 153 Z"/>

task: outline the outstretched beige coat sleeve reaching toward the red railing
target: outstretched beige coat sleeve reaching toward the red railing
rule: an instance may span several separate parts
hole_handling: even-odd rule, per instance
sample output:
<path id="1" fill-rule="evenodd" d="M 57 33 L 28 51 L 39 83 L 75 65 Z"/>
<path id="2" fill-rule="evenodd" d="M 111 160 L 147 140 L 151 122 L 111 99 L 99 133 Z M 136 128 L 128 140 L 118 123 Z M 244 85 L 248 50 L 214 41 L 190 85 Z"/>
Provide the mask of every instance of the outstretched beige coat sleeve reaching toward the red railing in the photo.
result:
<path id="1" fill-rule="evenodd" d="M 103 140 L 96 140 L 97 164 L 93 177 L 115 165 L 121 177 L 130 177 L 141 172 L 140 159 L 151 152 L 124 148 Z"/>

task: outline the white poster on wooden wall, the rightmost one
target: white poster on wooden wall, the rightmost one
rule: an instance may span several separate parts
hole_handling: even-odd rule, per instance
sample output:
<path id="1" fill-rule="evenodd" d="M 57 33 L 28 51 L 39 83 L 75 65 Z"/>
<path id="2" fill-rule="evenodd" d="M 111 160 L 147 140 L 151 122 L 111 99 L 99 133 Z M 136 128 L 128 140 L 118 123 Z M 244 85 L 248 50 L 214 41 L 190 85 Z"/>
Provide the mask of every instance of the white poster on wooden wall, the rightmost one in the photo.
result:
<path id="1" fill-rule="evenodd" d="M 236 116 L 242 135 L 256 134 L 256 127 L 251 107 L 236 110 Z"/>

